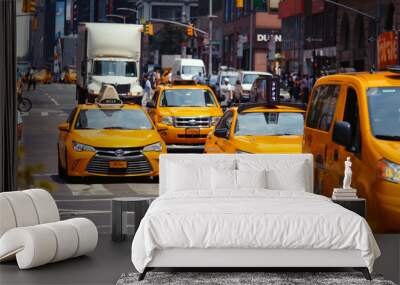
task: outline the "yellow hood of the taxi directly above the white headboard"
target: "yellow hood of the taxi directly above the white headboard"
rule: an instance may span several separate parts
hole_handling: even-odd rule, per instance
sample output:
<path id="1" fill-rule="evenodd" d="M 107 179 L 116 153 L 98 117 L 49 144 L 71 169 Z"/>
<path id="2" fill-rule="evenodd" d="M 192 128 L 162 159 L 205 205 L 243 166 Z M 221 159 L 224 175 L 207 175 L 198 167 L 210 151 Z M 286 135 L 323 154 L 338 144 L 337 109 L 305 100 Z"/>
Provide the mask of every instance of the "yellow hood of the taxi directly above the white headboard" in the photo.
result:
<path id="1" fill-rule="evenodd" d="M 236 136 L 236 147 L 250 153 L 301 153 L 303 136 Z"/>

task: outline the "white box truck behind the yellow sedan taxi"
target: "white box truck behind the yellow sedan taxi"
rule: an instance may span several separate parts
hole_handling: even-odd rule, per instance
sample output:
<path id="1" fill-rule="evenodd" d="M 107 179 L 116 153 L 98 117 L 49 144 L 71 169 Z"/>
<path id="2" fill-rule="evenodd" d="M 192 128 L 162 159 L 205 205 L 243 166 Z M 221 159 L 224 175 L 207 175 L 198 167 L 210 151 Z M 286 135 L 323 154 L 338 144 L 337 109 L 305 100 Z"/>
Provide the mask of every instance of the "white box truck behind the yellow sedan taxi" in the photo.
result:
<path id="1" fill-rule="evenodd" d="M 120 97 L 140 102 L 141 25 L 81 23 L 78 27 L 76 98 L 83 104 L 113 85 Z"/>

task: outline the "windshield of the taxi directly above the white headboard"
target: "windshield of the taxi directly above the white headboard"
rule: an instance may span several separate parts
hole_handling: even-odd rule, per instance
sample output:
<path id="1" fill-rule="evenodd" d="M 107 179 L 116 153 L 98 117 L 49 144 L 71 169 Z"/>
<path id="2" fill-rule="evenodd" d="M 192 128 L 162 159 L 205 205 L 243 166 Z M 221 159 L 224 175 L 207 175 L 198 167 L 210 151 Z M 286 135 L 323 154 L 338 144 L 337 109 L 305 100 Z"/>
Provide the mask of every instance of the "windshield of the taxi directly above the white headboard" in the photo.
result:
<path id="1" fill-rule="evenodd" d="M 302 113 L 257 112 L 238 115 L 236 136 L 302 136 Z"/>

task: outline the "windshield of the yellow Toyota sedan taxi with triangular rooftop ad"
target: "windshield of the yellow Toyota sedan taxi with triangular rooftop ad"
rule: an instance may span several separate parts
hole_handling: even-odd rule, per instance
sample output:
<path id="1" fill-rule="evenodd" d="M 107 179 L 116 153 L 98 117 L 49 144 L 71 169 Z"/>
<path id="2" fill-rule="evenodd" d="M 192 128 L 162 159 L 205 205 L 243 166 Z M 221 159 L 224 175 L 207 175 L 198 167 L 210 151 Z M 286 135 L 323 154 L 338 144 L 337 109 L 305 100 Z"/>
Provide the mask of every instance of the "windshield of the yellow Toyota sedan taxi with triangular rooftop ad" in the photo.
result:
<path id="1" fill-rule="evenodd" d="M 95 109 L 81 110 L 75 123 L 77 130 L 151 130 L 142 110 Z"/>

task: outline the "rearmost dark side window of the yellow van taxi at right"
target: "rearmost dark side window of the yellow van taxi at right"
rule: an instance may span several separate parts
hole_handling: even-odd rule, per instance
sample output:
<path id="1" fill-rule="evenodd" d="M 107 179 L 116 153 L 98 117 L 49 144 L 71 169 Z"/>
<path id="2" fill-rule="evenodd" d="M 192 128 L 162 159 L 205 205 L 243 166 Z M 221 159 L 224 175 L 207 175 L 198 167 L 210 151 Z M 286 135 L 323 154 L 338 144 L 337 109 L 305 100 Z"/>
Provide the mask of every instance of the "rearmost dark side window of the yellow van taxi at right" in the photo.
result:
<path id="1" fill-rule="evenodd" d="M 307 127 L 329 131 L 339 97 L 339 85 L 321 85 L 313 93 Z"/>

